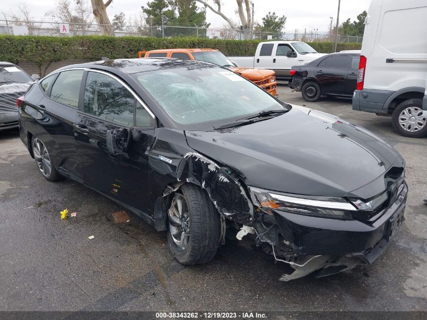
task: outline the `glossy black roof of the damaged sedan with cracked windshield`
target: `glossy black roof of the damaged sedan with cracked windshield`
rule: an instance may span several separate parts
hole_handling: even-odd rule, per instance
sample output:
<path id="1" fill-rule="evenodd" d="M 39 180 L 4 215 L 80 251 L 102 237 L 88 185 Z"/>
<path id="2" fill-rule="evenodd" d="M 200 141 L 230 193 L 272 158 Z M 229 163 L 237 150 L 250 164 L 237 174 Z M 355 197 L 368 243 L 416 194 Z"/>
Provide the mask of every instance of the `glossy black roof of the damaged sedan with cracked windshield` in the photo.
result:
<path id="1" fill-rule="evenodd" d="M 179 60 L 179 59 L 170 59 L 170 58 L 133 58 L 133 59 L 109 59 L 94 61 L 88 63 L 74 64 L 69 65 L 63 68 L 56 70 L 63 71 L 70 68 L 95 68 L 95 69 L 104 69 L 104 70 L 117 70 L 119 72 L 132 74 L 138 72 L 153 71 L 159 69 L 173 69 L 173 68 L 183 68 L 192 66 L 202 67 L 202 66 L 212 66 L 211 63 L 198 60 Z"/>

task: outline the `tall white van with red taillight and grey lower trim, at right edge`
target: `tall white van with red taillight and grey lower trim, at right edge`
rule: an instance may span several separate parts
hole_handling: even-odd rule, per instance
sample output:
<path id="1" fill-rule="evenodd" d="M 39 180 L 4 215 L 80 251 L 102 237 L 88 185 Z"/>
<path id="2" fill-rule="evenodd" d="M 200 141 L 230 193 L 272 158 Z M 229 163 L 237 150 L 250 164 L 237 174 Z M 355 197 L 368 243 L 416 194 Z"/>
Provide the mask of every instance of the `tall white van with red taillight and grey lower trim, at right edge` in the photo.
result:
<path id="1" fill-rule="evenodd" d="M 391 115 L 401 135 L 427 135 L 427 0 L 372 0 L 353 109 Z"/>

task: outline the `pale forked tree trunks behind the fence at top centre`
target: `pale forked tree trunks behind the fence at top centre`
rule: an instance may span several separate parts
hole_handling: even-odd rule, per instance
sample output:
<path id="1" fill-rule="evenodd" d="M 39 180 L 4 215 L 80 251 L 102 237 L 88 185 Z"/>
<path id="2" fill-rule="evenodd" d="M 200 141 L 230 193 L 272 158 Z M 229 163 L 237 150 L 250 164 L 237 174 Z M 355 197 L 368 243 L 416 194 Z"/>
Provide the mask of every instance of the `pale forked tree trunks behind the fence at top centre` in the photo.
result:
<path id="1" fill-rule="evenodd" d="M 242 30 L 241 32 L 243 32 L 245 39 L 250 38 L 251 33 L 249 31 L 252 30 L 252 12 L 249 0 L 236 0 L 236 4 L 238 6 L 237 11 L 239 13 L 240 21 L 242 22 L 241 26 L 236 25 L 230 18 L 228 18 L 221 12 L 221 0 L 212 0 L 213 5 L 210 4 L 209 0 L 196 1 L 212 10 L 212 12 L 221 16 L 225 21 L 227 21 L 231 29 Z M 216 9 L 214 7 L 216 7 Z"/>

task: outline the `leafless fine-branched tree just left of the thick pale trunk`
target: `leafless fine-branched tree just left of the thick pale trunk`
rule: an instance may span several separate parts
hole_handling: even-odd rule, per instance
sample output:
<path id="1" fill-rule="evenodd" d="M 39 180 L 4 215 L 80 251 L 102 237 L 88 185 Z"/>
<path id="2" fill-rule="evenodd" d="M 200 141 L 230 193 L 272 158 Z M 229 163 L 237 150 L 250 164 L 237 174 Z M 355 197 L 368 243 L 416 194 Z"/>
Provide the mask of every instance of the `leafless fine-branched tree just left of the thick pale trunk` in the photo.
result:
<path id="1" fill-rule="evenodd" d="M 57 0 L 55 10 L 45 16 L 52 17 L 55 21 L 70 24 L 70 30 L 86 34 L 90 29 L 88 24 L 93 22 L 92 11 L 87 0 Z M 57 25 L 55 25 L 56 29 Z M 59 30 L 58 30 L 59 32 Z"/>

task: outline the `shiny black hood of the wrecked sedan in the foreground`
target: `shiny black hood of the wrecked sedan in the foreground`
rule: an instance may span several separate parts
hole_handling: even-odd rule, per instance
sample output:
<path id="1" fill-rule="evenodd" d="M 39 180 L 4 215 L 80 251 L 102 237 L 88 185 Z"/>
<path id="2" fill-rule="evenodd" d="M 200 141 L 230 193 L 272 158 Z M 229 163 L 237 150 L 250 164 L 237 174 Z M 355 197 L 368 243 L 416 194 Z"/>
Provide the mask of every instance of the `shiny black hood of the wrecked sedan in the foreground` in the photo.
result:
<path id="1" fill-rule="evenodd" d="M 191 148 L 239 172 L 248 185 L 301 195 L 345 196 L 400 157 L 371 132 L 299 106 L 245 126 L 185 134 Z"/>

